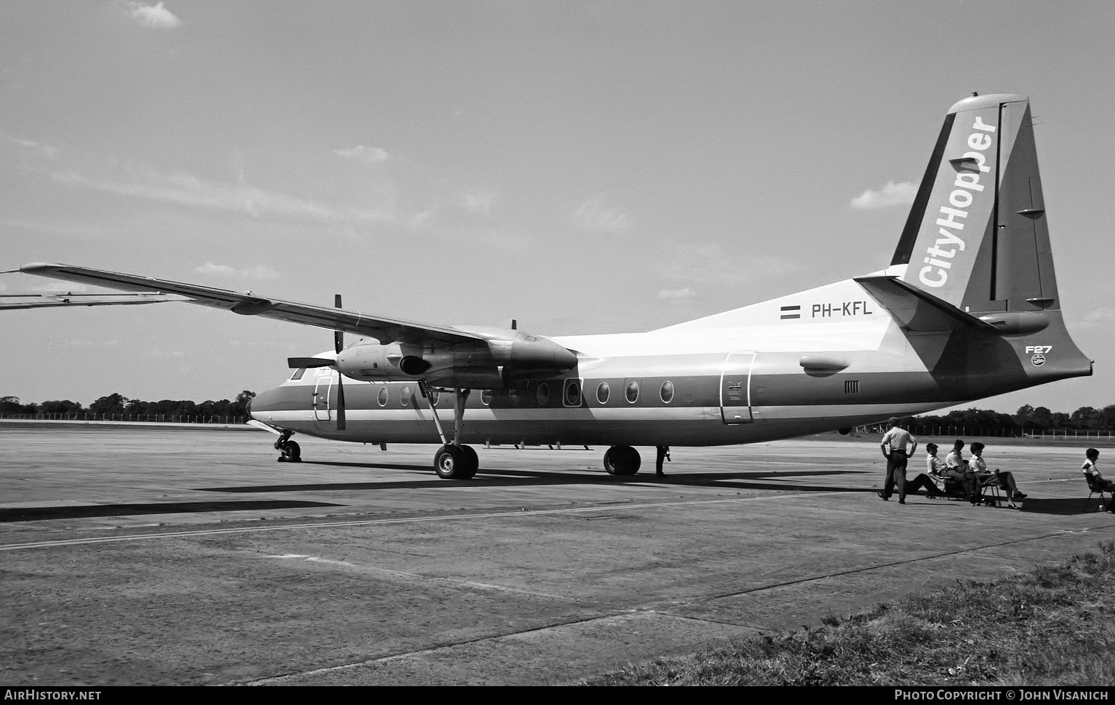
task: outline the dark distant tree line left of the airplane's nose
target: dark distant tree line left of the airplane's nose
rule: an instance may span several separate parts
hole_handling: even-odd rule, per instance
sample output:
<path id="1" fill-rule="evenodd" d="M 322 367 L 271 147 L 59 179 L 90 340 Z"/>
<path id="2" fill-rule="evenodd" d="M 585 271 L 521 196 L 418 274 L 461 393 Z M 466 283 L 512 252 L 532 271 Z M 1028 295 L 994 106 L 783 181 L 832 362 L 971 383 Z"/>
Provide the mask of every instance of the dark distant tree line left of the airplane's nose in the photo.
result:
<path id="1" fill-rule="evenodd" d="M 255 396 L 254 392 L 244 389 L 234 400 L 219 399 L 202 403 L 186 399 L 162 399 L 161 402 L 144 402 L 129 399 L 123 394 L 109 394 L 96 399 L 88 407 L 80 402 L 69 399 L 42 402 L 41 404 L 21 404 L 19 397 L 0 397 L 0 418 L 84 418 L 88 421 L 168 421 L 206 423 L 214 419 L 227 419 L 225 423 L 248 421 L 248 403 Z M 235 421 L 233 421 L 235 419 Z"/>

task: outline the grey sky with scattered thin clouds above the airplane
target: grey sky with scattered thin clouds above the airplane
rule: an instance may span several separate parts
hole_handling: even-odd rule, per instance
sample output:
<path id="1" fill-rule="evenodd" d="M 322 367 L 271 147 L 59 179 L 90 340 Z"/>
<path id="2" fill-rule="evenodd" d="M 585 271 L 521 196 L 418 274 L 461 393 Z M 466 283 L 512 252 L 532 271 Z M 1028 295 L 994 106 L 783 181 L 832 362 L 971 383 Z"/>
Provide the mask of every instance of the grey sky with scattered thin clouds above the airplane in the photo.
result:
<path id="1" fill-rule="evenodd" d="M 885 268 L 949 106 L 1020 93 L 1095 376 L 964 406 L 1106 406 L 1112 26 L 1107 1 L 10 0 L 0 269 L 649 330 Z M 79 288 L 0 276 L 28 290 Z M 232 398 L 330 347 L 187 303 L 6 311 L 0 396 Z"/>

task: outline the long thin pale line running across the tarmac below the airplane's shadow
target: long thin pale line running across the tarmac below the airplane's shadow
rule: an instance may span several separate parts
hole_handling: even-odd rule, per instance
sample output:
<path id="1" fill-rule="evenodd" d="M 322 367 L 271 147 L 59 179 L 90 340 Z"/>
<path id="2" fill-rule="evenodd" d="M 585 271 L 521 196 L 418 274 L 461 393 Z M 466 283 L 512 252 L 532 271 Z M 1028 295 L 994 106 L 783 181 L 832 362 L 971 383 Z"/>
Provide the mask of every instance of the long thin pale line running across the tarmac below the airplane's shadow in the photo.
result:
<path id="1" fill-rule="evenodd" d="M 278 527 L 240 527 L 236 529 L 202 529 L 197 531 L 168 531 L 159 533 L 139 533 L 127 537 L 96 537 L 88 539 L 66 539 L 62 541 L 36 541 L 31 543 L 8 543 L 0 545 L 0 551 L 18 551 L 20 549 L 46 549 L 62 545 L 83 545 L 88 543 L 116 543 L 120 541 L 145 541 L 149 539 L 178 539 L 184 537 L 212 537 L 226 533 L 251 533 L 258 531 L 284 531 L 291 529 L 331 529 L 339 527 L 375 527 L 387 524 L 406 524 L 435 521 L 455 521 L 463 519 L 498 519 L 503 516 L 539 516 L 543 514 L 570 514 L 578 512 L 603 512 L 618 509 L 656 509 L 659 506 L 687 506 L 694 504 L 724 504 L 729 502 L 759 502 L 765 500 L 793 499 L 804 496 L 825 496 L 846 494 L 846 492 L 801 492 L 792 494 L 769 494 L 764 496 L 729 498 L 725 500 L 687 500 L 685 502 L 646 502 L 641 504 L 601 504 L 599 506 L 574 506 L 568 509 L 532 509 L 517 512 L 485 512 L 479 514 L 448 514 L 445 516 L 408 516 L 400 519 L 368 519 L 363 521 L 330 521 L 303 524 L 280 524 Z"/>

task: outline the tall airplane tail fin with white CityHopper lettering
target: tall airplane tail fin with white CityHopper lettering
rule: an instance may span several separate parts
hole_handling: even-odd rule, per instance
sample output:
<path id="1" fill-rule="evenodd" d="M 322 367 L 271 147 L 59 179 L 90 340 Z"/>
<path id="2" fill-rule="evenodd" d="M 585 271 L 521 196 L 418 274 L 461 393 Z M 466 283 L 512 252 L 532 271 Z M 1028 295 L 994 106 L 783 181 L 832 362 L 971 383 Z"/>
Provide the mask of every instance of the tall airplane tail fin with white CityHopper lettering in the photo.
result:
<path id="1" fill-rule="evenodd" d="M 1029 99 L 949 109 L 891 265 L 971 313 L 1059 309 Z"/>

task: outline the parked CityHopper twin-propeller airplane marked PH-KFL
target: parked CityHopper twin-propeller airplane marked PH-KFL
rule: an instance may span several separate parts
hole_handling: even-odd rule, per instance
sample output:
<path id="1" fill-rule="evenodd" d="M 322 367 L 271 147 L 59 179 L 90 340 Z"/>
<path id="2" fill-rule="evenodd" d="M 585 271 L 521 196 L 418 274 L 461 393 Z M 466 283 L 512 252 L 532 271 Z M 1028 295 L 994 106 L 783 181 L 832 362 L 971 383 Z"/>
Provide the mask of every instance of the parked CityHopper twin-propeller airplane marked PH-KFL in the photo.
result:
<path id="1" fill-rule="evenodd" d="M 332 351 L 290 358 L 290 378 L 252 399 L 279 460 L 300 460 L 295 433 L 435 443 L 436 473 L 456 480 L 477 472 L 469 444 L 607 445 L 605 471 L 632 475 L 638 445 L 660 469 L 670 446 L 846 432 L 1092 374 L 1061 315 L 1029 99 L 1014 94 L 949 109 L 886 269 L 647 332 L 438 327 L 339 296 L 328 308 L 86 267 L 18 271 L 332 329 Z"/>

